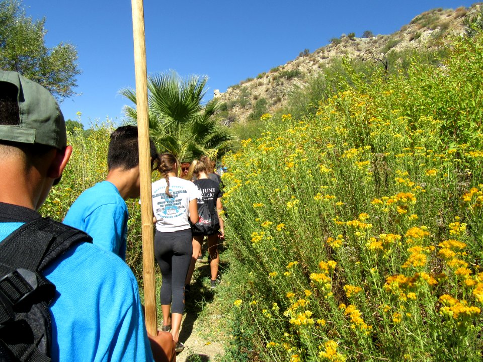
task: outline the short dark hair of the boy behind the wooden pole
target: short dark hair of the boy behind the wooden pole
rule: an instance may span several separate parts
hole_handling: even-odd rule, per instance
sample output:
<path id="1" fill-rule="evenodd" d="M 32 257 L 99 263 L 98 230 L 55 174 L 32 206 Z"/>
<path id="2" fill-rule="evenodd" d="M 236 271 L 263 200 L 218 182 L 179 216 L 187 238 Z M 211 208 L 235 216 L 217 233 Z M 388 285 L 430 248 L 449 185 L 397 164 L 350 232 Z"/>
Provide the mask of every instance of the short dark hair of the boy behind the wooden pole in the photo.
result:
<path id="1" fill-rule="evenodd" d="M 151 169 L 157 168 L 159 155 L 154 142 L 149 139 L 151 153 Z M 119 168 L 128 170 L 139 165 L 137 127 L 121 126 L 111 133 L 109 150 L 107 152 L 107 166 L 109 170 Z"/>

